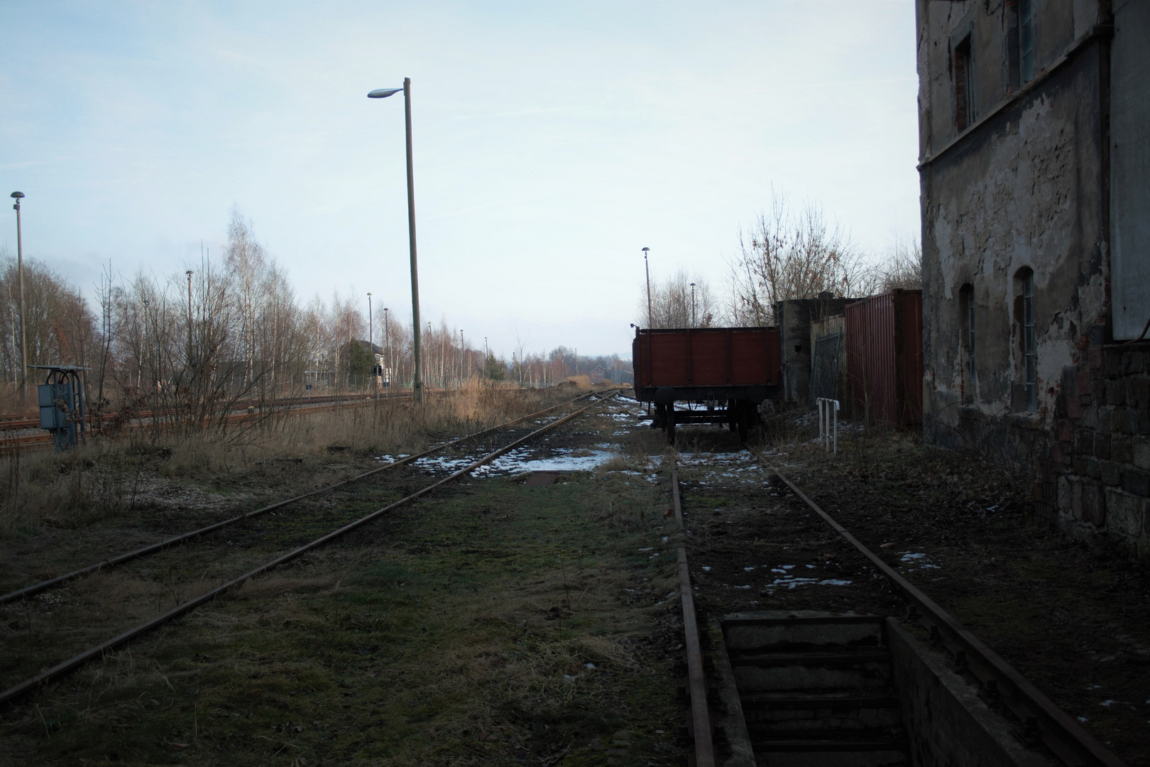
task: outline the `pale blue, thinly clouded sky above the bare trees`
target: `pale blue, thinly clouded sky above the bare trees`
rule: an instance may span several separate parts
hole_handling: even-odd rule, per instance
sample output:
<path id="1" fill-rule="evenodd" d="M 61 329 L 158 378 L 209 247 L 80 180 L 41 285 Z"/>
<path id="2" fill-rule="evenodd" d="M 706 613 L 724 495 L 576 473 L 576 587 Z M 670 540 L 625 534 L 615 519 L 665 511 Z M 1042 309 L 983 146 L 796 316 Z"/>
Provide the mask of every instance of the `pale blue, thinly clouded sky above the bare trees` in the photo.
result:
<path id="1" fill-rule="evenodd" d="M 0 0 L 0 190 L 89 296 L 222 254 L 236 206 L 301 301 L 409 321 L 402 94 L 366 95 L 411 77 L 424 322 L 629 356 L 643 247 L 719 294 L 780 191 L 918 235 L 914 45 L 904 0 Z"/>

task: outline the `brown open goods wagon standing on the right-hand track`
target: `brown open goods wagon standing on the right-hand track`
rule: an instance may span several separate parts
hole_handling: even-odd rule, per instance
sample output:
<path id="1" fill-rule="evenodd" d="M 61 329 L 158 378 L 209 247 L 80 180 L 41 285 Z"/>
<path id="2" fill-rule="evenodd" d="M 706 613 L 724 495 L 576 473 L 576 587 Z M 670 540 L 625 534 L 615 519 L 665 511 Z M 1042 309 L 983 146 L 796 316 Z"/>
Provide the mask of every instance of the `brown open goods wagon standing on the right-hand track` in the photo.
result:
<path id="1" fill-rule="evenodd" d="M 726 423 L 745 439 L 759 404 L 777 394 L 781 359 L 777 328 L 636 329 L 631 342 L 635 394 L 654 402 L 652 425 L 672 444 L 676 423 Z"/>

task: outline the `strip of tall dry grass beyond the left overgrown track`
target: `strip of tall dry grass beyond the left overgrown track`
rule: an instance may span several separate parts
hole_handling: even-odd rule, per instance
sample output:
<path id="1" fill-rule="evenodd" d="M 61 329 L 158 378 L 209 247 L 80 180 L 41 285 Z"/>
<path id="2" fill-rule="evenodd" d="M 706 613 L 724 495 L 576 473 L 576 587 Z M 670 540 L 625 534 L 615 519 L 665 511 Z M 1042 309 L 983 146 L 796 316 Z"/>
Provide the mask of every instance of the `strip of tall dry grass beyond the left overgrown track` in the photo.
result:
<path id="1" fill-rule="evenodd" d="M 135 431 L 90 439 L 67 453 L 13 452 L 0 457 L 0 538 L 131 516 L 155 508 L 155 493 L 174 483 L 250 483 L 253 467 L 276 461 L 283 467 L 308 460 L 308 475 L 325 481 L 330 471 L 323 463 L 338 471 L 371 455 L 419 452 L 584 391 L 570 384 L 521 390 L 473 382 L 451 396 L 429 397 L 422 406 L 381 398 L 323 413 L 297 411 L 225 435 L 153 437 Z M 343 452 L 329 453 L 332 446 Z"/>

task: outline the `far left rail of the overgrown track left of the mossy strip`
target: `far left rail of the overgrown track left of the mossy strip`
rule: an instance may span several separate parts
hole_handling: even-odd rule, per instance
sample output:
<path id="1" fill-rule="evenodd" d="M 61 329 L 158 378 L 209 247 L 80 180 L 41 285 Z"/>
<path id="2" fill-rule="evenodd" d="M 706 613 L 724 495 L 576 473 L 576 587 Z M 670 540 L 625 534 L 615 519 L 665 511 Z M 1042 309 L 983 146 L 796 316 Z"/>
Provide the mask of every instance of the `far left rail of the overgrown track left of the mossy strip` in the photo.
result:
<path id="1" fill-rule="evenodd" d="M 5 603 L 9 603 L 9 601 L 15 601 L 16 599 L 24 599 L 24 598 L 31 597 L 33 595 L 40 593 L 41 591 L 46 591 L 47 589 L 51 589 L 53 586 L 56 586 L 56 585 L 60 585 L 60 584 L 66 583 L 68 581 L 71 581 L 72 578 L 77 578 L 77 577 L 79 577 L 82 575 L 87 575 L 89 573 L 94 573 L 94 572 L 100 570 L 100 569 L 106 569 L 106 568 L 109 568 L 109 567 L 115 567 L 116 565 L 123 565 L 124 562 L 132 561 L 133 559 L 139 559 L 141 557 L 147 557 L 148 554 L 154 554 L 156 552 L 163 551 L 164 549 L 169 549 L 171 546 L 178 546 L 179 544 L 185 543 L 187 540 L 192 540 L 193 538 L 198 538 L 199 536 L 205 536 L 205 535 L 208 535 L 210 532 L 216 532 L 217 530 L 222 530 L 224 528 L 231 527 L 232 524 L 236 524 L 238 522 L 243 522 L 245 520 L 251 520 L 251 519 L 254 519 L 256 516 L 261 516 L 263 514 L 267 514 L 269 512 L 274 512 L 274 511 L 277 511 L 277 509 L 281 509 L 281 508 L 285 508 L 285 507 L 291 506 L 292 504 L 301 501 L 301 500 L 304 500 L 306 498 L 313 498 L 313 497 L 322 494 L 322 493 L 331 492 L 334 490 L 337 490 L 338 488 L 343 488 L 345 485 L 348 485 L 348 484 L 352 484 L 352 483 L 355 483 L 355 482 L 360 482 L 361 480 L 366 480 L 368 477 L 375 476 L 375 475 L 381 474 L 383 471 L 386 471 L 389 469 L 393 469 L 396 467 L 404 466 L 406 463 L 411 463 L 411 462 L 416 461 L 416 460 L 419 460 L 419 459 L 421 459 L 421 458 L 423 458 L 425 455 L 431 455 L 432 453 L 437 453 L 437 452 L 439 452 L 442 450 L 446 450 L 447 447 L 452 447 L 454 445 L 458 445 L 460 443 L 467 442 L 469 439 L 476 439 L 478 437 L 486 436 L 489 434 L 492 434 L 492 432 L 498 431 L 500 429 L 506 429 L 509 425 L 513 425 L 513 424 L 519 423 L 521 421 L 526 421 L 528 419 L 534 419 L 534 417 L 538 417 L 540 415 L 546 415 L 547 413 L 551 413 L 552 411 L 557 411 L 557 409 L 559 409 L 561 407 L 566 407 L 566 406 L 572 405 L 574 402 L 577 402 L 580 400 L 586 399 L 588 397 L 591 397 L 591 396 L 592 394 L 589 393 L 589 394 L 583 394 L 581 397 L 575 397 L 573 399 L 567 400 L 566 402 L 560 402 L 559 405 L 554 405 L 552 407 L 544 408 L 544 409 L 538 411 L 536 413 L 531 413 L 529 415 L 523 415 L 523 416 L 520 416 L 518 419 L 512 419 L 511 421 L 505 421 L 504 423 L 500 423 L 498 425 L 491 427 L 489 429 L 483 429 L 482 431 L 476 431 L 475 434 L 465 435 L 462 437 L 457 437 L 455 439 L 451 439 L 451 440 L 445 442 L 443 444 L 436 445 L 435 447 L 425 450 L 422 453 L 416 453 L 415 455 L 408 455 L 407 458 L 399 459 L 398 461 L 392 461 L 392 462 L 386 463 L 384 466 L 381 466 L 378 468 L 371 469 L 370 471 L 363 471 L 362 474 L 359 474 L 359 475 L 356 475 L 354 477 L 351 477 L 348 480 L 343 480 L 340 482 L 336 482 L 334 484 L 325 485 L 323 488 L 319 488 L 316 490 L 312 490 L 309 492 L 301 493 L 299 496 L 292 497 L 292 498 L 279 500 L 279 501 L 276 501 L 274 504 L 269 504 L 267 506 L 263 506 L 261 508 L 256 508 L 254 511 L 246 512 L 246 513 L 239 514 L 237 516 L 232 516 L 231 519 L 222 520 L 222 521 L 216 522 L 214 524 L 208 524 L 207 527 L 198 528 L 195 530 L 189 530 L 187 532 L 182 532 L 179 535 L 172 536 L 170 538 L 166 538 L 164 540 L 156 542 L 154 544 L 144 546 L 141 549 L 136 549 L 133 551 L 129 551 L 129 552 L 120 554 L 117 557 L 112 557 L 110 559 L 106 559 L 106 560 L 95 562 L 93 565 L 86 565 L 84 567 L 79 567 L 79 568 L 77 568 L 75 570 L 71 570 L 69 573 L 63 573 L 62 575 L 57 575 L 55 577 L 51 577 L 51 578 L 47 578 L 45 581 L 40 581 L 39 583 L 33 583 L 31 585 L 26 585 L 26 586 L 24 586 L 22 589 L 17 589 L 15 591 L 9 591 L 8 593 L 0 596 L 0 605 L 2 605 Z"/>

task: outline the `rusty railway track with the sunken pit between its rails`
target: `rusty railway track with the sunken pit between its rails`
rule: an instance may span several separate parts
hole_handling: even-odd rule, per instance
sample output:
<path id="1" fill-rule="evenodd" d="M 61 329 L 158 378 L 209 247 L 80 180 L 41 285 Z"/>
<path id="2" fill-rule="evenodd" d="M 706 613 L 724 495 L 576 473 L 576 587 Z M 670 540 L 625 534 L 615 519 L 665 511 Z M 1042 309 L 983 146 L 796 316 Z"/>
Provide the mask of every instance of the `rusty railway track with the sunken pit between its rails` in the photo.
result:
<path id="1" fill-rule="evenodd" d="M 902 618 L 904 622 L 910 624 L 914 623 L 921 626 L 925 629 L 927 636 L 929 637 L 930 644 L 936 649 L 943 651 L 949 658 L 948 667 L 949 670 L 956 673 L 961 678 L 965 680 L 965 684 L 969 685 L 971 690 L 976 693 L 976 697 L 983 701 L 988 701 L 989 705 L 994 707 L 995 711 L 1006 714 L 1007 719 L 1013 719 L 1017 723 L 1017 733 L 1019 736 L 1015 739 L 1021 742 L 1023 750 L 1035 749 L 1038 751 L 1033 753 L 1045 752 L 1050 764 L 1063 764 L 1071 767 L 1078 767 L 1080 765 L 1087 765 L 1090 767 L 1122 767 L 1124 762 L 1111 752 L 1104 744 L 1102 744 L 1097 738 L 1095 738 L 1090 733 L 1088 733 L 1074 718 L 1068 715 L 1065 711 L 1059 708 L 1053 704 L 1042 691 L 1034 687 L 1029 681 L 1027 681 L 1021 674 L 1019 674 L 1014 668 L 1010 666 L 1004 659 L 1002 659 L 997 653 L 995 653 L 989 646 L 986 645 L 979 637 L 976 637 L 972 631 L 965 628 L 958 620 L 950 615 L 945 609 L 937 605 L 934 600 L 927 597 L 921 590 L 911 584 L 902 574 L 890 567 L 881 557 L 867 549 L 857 537 L 851 535 L 843 526 L 836 522 L 829 514 L 827 514 L 818 504 L 815 504 L 806 493 L 803 492 L 790 478 L 788 478 L 777 467 L 770 463 L 766 455 L 754 450 L 753 447 L 744 445 L 744 447 L 754 457 L 754 459 L 775 477 L 777 482 L 781 483 L 780 489 L 785 489 L 785 492 L 793 493 L 793 498 L 800 500 L 804 506 L 813 512 L 819 522 L 825 523 L 830 530 L 850 549 L 862 558 L 866 566 L 873 569 L 877 576 L 881 577 L 882 582 L 889 585 L 889 592 L 883 595 L 877 595 L 872 598 L 871 605 L 887 603 L 890 604 L 890 598 L 895 597 L 897 600 L 904 605 L 904 613 Z M 672 466 L 672 498 L 674 504 L 674 513 L 677 520 L 683 521 L 683 497 L 680 489 L 680 470 L 676 465 Z M 773 493 L 775 494 L 775 493 Z M 781 494 L 781 493 L 780 493 Z M 718 512 L 716 512 L 718 513 Z M 705 517 L 703 517 L 705 519 Z M 695 522 L 696 526 L 699 522 Z M 807 527 L 818 523 L 807 523 Z M 685 528 L 684 528 L 685 530 Z M 807 538 L 815 537 L 815 532 L 805 532 Z M 690 540 L 690 535 L 687 538 Z M 781 544 L 780 544 L 781 545 Z M 738 703 L 738 696 L 742 691 L 735 690 L 734 676 L 729 672 L 729 664 L 726 647 L 711 647 L 711 659 L 706 659 L 706 652 L 703 649 L 706 638 L 706 630 L 700 632 L 698 620 L 696 616 L 695 600 L 697 599 L 698 588 L 691 583 L 691 566 L 688 562 L 688 546 L 681 546 L 678 550 L 678 573 L 680 573 L 680 590 L 682 598 L 682 611 L 684 620 L 684 645 L 687 652 L 688 661 L 688 688 L 689 688 L 689 699 L 690 699 L 690 713 L 688 718 L 688 735 L 689 742 L 693 745 L 693 757 L 695 764 L 703 766 L 711 766 L 720 764 L 720 761 L 731 760 L 728 764 L 753 764 L 754 758 L 750 757 L 750 761 L 739 761 L 739 754 L 742 753 L 745 758 L 751 754 L 751 736 L 747 735 L 749 723 L 743 719 L 743 711 L 741 710 L 741 704 Z M 718 552 L 712 552 L 712 555 L 716 555 Z M 793 567 L 793 566 L 788 566 Z M 813 567 L 808 565 L 807 567 Z M 711 569 L 710 567 L 704 569 Z M 744 568 L 744 569 L 754 569 Z M 698 572 L 698 570 L 697 570 Z M 776 573 L 788 573 L 785 578 L 790 578 L 790 570 L 776 569 Z M 743 586 L 738 586 L 743 588 Z M 750 588 L 750 586 L 746 586 Z M 793 581 L 791 584 L 793 589 Z M 731 631 L 743 631 L 744 634 L 752 630 L 749 627 L 760 627 L 773 626 L 772 631 L 777 630 L 797 630 L 793 627 L 788 629 L 781 629 L 783 624 L 791 626 L 795 623 L 802 624 L 810 629 L 811 626 L 815 623 L 830 624 L 836 619 L 827 613 L 811 613 L 810 615 L 799 615 L 803 611 L 788 612 L 785 616 L 776 616 L 774 614 L 767 613 L 745 613 L 745 614 L 734 614 L 728 615 L 729 619 L 726 622 L 713 621 L 712 639 L 715 636 L 722 636 L 723 632 Z M 864 608 L 864 612 L 868 612 Z M 874 612 L 873 608 L 869 612 Z M 846 622 L 854 624 L 860 624 L 860 621 L 871 621 L 874 626 L 880 626 L 880 621 L 884 620 L 880 616 L 868 618 L 841 618 L 839 623 Z M 777 626 L 775 626 L 777 623 Z M 720 628 L 722 626 L 723 628 Z M 735 627 L 734 629 L 730 627 Z M 842 627 L 837 627 L 838 630 Z M 881 626 L 880 626 L 881 629 Z M 851 629 L 857 630 L 857 629 Z M 719 644 L 723 644 L 720 638 Z M 819 653 L 815 653 L 816 655 Z M 822 653 L 827 654 L 827 653 Z M 879 660 L 879 655 L 874 655 L 875 661 Z M 720 659 L 721 664 L 724 665 L 727 670 L 727 687 L 723 689 L 721 680 L 711 678 L 708 680 L 704 667 L 706 660 L 714 661 Z M 823 660 L 826 660 L 823 658 Z M 854 661 L 859 661 L 859 657 L 854 655 L 852 658 Z M 793 658 L 791 659 L 793 661 Z M 787 661 L 787 662 L 791 662 Z M 761 653 L 753 658 L 742 658 L 736 660 L 737 664 L 752 664 L 758 666 L 768 666 L 773 662 L 781 662 L 777 658 L 770 659 L 764 657 Z M 745 673 L 745 672 L 744 672 Z M 765 673 L 765 672 L 764 672 Z M 714 676 L 720 676 L 719 672 L 714 672 Z M 745 676 L 742 678 L 746 678 Z M 752 696 L 753 697 L 753 696 Z M 779 703 L 770 700 L 759 700 L 752 701 L 752 706 L 772 705 L 777 708 Z M 800 708 L 806 708 L 807 714 L 810 714 L 812 708 L 811 700 L 800 700 L 798 704 L 791 701 L 791 705 L 799 705 Z M 822 705 L 822 704 L 819 704 Z M 842 707 L 841 703 L 836 704 Z M 860 704 L 861 705 L 861 704 Z M 874 704 L 877 706 L 879 704 Z M 885 705 L 889 707 L 894 705 L 897 711 L 897 703 L 892 704 L 889 699 Z M 735 714 L 731 713 L 731 708 L 738 710 Z M 828 708 L 829 710 L 829 708 Z M 761 716 L 758 711 L 752 711 L 757 716 Z M 775 713 L 774 716 L 782 716 L 782 713 Z M 814 715 L 814 714 L 810 714 Z M 845 716 L 846 714 L 838 714 L 839 716 Z M 735 721 L 735 720 L 738 721 Z M 716 721 L 722 721 L 722 727 L 715 727 Z M 756 720 L 756 726 L 761 726 L 761 721 Z M 733 730 L 735 730 L 733 733 Z M 802 730 L 799 730 L 802 733 Z M 731 741 L 738 741 L 733 745 Z M 818 746 L 818 749 L 830 749 L 831 751 L 846 751 L 848 746 L 856 745 L 860 749 L 876 749 L 879 746 L 874 744 L 850 744 L 845 741 L 837 744 L 827 745 L 823 743 Z M 882 744 L 880 744 L 882 745 Z M 891 749 L 900 749 L 904 752 L 910 747 L 906 741 L 890 742 Z M 759 747 L 766 747 L 760 746 Z M 791 739 L 785 742 L 776 742 L 770 747 L 782 749 L 788 751 L 793 758 L 795 752 L 802 751 L 803 749 L 815 749 L 812 743 L 804 743 L 802 738 Z M 742 751 L 741 751 L 742 749 Z M 843 754 L 843 758 L 848 758 Z M 761 762 L 760 762 L 761 764 Z M 795 762 L 798 764 L 798 762 Z M 818 762 L 823 764 L 823 762 Z M 829 762 L 828 762 L 829 764 Z M 854 764 L 854 762 L 842 762 L 842 764 Z M 1021 762 L 1019 762 L 1021 764 Z"/>

